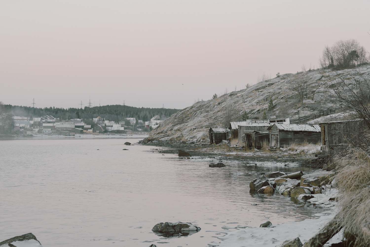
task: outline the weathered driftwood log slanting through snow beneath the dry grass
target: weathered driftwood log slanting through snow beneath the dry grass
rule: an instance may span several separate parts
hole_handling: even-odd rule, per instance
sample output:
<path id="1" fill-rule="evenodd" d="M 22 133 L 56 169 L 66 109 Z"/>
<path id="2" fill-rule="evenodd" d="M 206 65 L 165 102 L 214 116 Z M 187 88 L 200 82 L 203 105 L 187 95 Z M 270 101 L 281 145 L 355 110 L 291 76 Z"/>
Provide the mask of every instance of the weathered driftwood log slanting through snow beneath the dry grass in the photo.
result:
<path id="1" fill-rule="evenodd" d="M 303 247 L 322 247 L 335 234 L 337 234 L 342 226 L 339 224 L 338 217 L 334 217 L 332 221 L 327 223 L 315 236 L 310 238 Z"/>

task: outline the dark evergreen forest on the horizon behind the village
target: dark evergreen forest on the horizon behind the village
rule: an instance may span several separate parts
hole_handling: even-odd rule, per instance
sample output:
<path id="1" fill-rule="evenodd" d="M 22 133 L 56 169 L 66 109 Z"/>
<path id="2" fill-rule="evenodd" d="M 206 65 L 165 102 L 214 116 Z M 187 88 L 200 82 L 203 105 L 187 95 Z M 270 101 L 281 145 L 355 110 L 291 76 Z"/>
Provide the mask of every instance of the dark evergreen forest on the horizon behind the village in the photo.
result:
<path id="1" fill-rule="evenodd" d="M 161 118 L 168 118 L 172 114 L 179 111 L 179 109 L 167 108 L 144 108 L 122 105 L 107 105 L 82 108 L 57 108 L 45 107 L 37 108 L 30 106 L 12 106 L 10 104 L 4 105 L 4 108 L 11 112 L 14 116 L 23 117 L 41 117 L 44 115 L 52 115 L 61 120 L 68 119 L 92 119 L 100 116 L 106 120 L 118 121 L 125 117 L 135 117 L 139 120 L 149 121 L 152 117 L 159 115 Z"/>

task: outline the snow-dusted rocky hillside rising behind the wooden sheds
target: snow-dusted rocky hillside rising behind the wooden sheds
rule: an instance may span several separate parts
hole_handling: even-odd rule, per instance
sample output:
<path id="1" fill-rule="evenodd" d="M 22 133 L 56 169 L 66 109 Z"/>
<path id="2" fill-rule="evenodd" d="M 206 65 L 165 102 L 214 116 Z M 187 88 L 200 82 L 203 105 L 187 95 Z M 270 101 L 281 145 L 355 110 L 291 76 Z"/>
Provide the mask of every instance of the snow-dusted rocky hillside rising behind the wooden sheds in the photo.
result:
<path id="1" fill-rule="evenodd" d="M 370 65 L 356 68 L 361 74 L 370 76 Z M 332 71 L 312 70 L 296 74 L 282 74 L 279 77 L 259 82 L 249 88 L 224 94 L 216 99 L 199 101 L 178 111 L 151 131 L 144 143 L 152 140 L 173 140 L 186 142 L 208 142 L 210 126 L 225 126 L 227 121 L 241 120 L 242 114 L 249 119 L 298 118 L 318 111 L 336 109 L 324 99 L 328 90 L 336 87 L 335 80 L 342 76 L 346 80 L 357 78 L 353 69 Z M 303 103 L 292 85 L 298 77 L 308 80 L 308 91 Z M 212 92 L 210 92 L 212 93 Z M 272 99 L 273 108 L 269 110 Z M 271 108 L 271 107 L 270 107 Z"/>

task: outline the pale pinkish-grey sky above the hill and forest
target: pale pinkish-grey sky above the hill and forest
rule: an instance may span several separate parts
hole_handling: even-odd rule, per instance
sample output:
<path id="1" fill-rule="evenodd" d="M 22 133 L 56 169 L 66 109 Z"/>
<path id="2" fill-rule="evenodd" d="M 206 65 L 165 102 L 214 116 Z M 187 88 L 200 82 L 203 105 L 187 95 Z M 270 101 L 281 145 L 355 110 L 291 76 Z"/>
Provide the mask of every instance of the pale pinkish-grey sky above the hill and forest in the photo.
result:
<path id="1" fill-rule="evenodd" d="M 370 1 L 2 1 L 0 101 L 182 109 L 319 66 L 324 46 L 370 50 Z"/>

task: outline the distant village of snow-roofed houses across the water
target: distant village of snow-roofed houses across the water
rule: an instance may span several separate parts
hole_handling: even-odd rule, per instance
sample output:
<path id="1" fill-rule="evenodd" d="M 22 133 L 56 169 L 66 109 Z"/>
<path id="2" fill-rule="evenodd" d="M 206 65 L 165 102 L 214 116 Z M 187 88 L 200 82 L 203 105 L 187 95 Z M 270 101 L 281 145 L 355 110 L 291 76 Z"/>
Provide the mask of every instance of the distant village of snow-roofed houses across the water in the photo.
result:
<path id="1" fill-rule="evenodd" d="M 63 136 L 84 133 L 127 133 L 128 130 L 149 132 L 158 127 L 163 121 L 160 119 L 159 115 L 152 117 L 150 121 L 138 120 L 135 117 L 110 121 L 98 116 L 93 119 L 71 119 L 65 121 L 51 115 L 42 117 L 13 116 L 13 131 L 30 134 L 37 130 L 37 133 Z"/>

